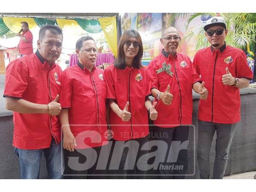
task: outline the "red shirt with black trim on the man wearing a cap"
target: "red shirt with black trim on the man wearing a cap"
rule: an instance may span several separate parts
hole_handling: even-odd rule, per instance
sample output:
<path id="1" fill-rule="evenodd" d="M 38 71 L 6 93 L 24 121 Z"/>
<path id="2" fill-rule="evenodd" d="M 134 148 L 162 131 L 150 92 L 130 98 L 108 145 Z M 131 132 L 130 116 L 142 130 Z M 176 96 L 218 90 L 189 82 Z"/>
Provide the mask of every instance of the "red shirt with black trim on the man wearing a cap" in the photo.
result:
<path id="1" fill-rule="evenodd" d="M 226 124 L 239 122 L 240 90 L 224 85 L 222 76 L 227 74 L 228 67 L 233 77 L 253 78 L 244 51 L 226 44 L 218 50 L 207 47 L 195 54 L 193 64 L 208 90 L 208 98 L 199 101 L 198 119 Z"/>

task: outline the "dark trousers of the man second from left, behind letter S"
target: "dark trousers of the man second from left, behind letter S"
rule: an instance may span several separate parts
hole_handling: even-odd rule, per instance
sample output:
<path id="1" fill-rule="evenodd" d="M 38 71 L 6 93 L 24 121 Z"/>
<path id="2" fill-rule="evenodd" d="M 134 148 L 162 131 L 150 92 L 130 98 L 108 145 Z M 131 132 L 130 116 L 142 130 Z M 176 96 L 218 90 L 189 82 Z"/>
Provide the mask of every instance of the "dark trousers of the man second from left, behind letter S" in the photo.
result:
<path id="1" fill-rule="evenodd" d="M 75 149 L 75 151 L 72 152 L 64 150 L 64 178 L 104 179 L 106 169 L 96 169 L 101 148 L 102 147 Z"/>

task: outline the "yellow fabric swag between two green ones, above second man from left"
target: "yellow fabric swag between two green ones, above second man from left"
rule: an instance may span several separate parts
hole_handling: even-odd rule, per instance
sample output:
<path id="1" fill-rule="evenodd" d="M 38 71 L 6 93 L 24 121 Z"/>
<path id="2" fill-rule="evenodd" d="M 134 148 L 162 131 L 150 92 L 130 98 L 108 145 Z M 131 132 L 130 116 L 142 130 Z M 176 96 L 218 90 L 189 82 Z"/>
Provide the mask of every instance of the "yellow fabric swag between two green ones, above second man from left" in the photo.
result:
<path id="1" fill-rule="evenodd" d="M 84 33 L 84 29 L 79 26 L 76 20 L 71 19 L 56 19 L 58 26 L 65 30 L 67 33 L 71 33 L 73 35 L 81 35 Z"/>

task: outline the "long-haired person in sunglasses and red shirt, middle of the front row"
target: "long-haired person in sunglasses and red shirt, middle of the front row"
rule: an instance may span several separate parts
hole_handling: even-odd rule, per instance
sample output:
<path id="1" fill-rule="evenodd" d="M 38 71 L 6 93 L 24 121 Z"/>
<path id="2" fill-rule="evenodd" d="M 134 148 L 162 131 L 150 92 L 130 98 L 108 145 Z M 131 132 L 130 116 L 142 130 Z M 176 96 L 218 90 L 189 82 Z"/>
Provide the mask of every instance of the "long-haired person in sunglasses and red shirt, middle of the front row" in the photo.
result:
<path id="1" fill-rule="evenodd" d="M 152 105 L 148 99 L 151 80 L 141 64 L 142 55 L 140 34 L 127 30 L 120 38 L 116 61 L 104 72 L 107 99 L 112 109 L 110 123 L 114 147 L 109 169 L 117 170 L 115 174 L 125 175 L 125 178 L 127 174 L 145 175 L 147 159 L 140 159 L 143 154 L 140 149 L 148 141 L 148 113 L 151 120 L 157 119 L 156 103 Z"/>

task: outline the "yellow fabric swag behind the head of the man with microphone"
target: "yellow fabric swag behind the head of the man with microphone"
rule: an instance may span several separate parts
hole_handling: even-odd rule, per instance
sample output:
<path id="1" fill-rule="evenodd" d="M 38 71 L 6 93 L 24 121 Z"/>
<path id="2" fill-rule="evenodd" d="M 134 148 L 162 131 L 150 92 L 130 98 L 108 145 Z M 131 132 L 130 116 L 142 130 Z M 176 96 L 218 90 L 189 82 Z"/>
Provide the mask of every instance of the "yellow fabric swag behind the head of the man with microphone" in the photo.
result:
<path id="1" fill-rule="evenodd" d="M 26 21 L 29 24 L 29 29 L 33 29 L 37 26 L 34 18 L 24 18 L 24 17 L 3 17 L 3 22 L 6 26 L 14 33 L 20 31 L 20 22 Z"/>

